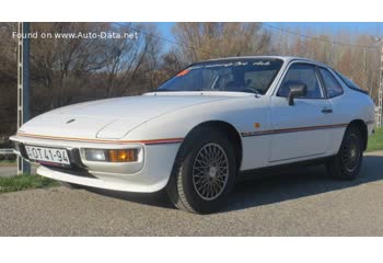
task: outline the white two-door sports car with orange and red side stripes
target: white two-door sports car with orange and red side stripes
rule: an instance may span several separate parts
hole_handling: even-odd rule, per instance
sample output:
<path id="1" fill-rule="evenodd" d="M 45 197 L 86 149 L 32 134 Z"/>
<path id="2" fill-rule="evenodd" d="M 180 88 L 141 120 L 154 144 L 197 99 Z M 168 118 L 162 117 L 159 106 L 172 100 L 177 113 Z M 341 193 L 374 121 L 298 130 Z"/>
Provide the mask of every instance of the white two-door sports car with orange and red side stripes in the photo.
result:
<path id="1" fill-rule="evenodd" d="M 11 139 L 37 173 L 72 185 L 151 193 L 211 213 L 244 171 L 322 161 L 359 174 L 374 104 L 326 65 L 235 57 L 190 65 L 140 96 L 65 106 Z"/>

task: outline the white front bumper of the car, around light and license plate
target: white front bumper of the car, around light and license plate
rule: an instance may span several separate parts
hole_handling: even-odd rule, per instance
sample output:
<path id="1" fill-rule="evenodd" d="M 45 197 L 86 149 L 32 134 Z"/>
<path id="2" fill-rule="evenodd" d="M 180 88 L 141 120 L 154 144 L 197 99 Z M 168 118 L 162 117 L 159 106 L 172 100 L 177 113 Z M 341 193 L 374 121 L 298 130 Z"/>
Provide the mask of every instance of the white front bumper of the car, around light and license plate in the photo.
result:
<path id="1" fill-rule="evenodd" d="M 37 174 L 73 184 L 139 193 L 156 192 L 167 184 L 175 156 L 181 146 L 181 142 L 120 145 L 118 141 L 116 144 L 97 144 L 26 138 L 21 136 L 13 136 L 11 140 L 22 145 L 68 149 L 71 156 L 71 162 L 73 163 L 71 169 L 40 165 L 37 169 Z M 86 162 L 81 159 L 79 153 L 81 148 L 121 149 L 137 147 L 142 149 L 142 158 L 140 162 L 134 163 Z M 22 152 L 19 152 L 19 155 L 25 158 L 25 155 L 22 155 Z"/>

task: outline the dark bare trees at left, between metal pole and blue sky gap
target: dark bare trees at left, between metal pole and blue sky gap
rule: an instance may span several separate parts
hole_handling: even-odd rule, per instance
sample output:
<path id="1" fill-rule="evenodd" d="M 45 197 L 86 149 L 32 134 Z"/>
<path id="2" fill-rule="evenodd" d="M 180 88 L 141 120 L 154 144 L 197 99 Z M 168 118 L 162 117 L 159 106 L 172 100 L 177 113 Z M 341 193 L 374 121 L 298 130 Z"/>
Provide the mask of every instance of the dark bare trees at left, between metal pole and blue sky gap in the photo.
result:
<path id="1" fill-rule="evenodd" d="M 131 23 L 33 23 L 33 31 L 51 33 L 125 33 Z M 155 25 L 135 24 L 135 28 L 158 34 Z M 139 35 L 135 38 L 53 37 L 32 42 L 32 76 L 36 98 L 49 94 L 49 107 L 77 101 L 129 94 L 130 90 L 149 90 L 150 78 L 158 66 L 158 38 Z M 148 79 L 143 79 L 143 75 Z M 95 81 L 96 80 L 96 81 Z M 140 83 L 137 89 L 132 85 Z M 82 98 L 82 99 L 81 99 Z M 46 103 L 34 104 L 40 112 Z"/>

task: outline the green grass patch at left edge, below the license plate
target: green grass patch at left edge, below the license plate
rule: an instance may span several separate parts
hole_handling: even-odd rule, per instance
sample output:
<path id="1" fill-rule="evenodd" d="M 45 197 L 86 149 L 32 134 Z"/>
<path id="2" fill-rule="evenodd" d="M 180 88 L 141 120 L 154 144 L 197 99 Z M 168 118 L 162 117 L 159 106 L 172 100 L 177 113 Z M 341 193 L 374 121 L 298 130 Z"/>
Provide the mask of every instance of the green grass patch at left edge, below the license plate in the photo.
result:
<path id="1" fill-rule="evenodd" d="M 60 185 L 59 182 L 40 175 L 21 174 L 14 176 L 0 176 L 0 194 L 28 188 L 47 188 Z"/>

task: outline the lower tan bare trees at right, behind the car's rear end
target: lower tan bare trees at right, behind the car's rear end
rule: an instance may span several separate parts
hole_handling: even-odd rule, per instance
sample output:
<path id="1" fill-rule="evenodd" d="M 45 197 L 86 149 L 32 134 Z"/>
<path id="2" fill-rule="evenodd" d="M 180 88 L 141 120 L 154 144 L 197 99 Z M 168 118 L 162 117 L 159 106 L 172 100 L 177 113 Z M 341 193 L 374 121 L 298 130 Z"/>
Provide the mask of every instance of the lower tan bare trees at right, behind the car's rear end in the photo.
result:
<path id="1" fill-rule="evenodd" d="M 379 49 L 373 37 L 348 31 L 321 32 L 289 30 L 294 34 L 278 32 L 271 35 L 276 54 L 312 58 L 340 71 L 378 101 Z M 373 46 L 376 48 L 371 48 Z"/>

